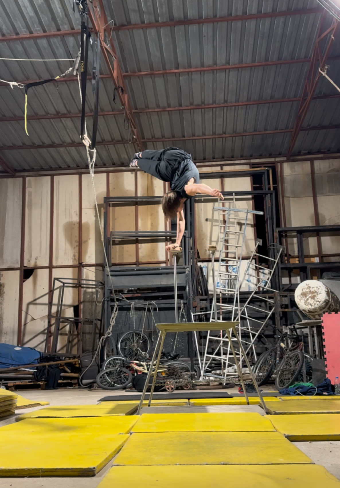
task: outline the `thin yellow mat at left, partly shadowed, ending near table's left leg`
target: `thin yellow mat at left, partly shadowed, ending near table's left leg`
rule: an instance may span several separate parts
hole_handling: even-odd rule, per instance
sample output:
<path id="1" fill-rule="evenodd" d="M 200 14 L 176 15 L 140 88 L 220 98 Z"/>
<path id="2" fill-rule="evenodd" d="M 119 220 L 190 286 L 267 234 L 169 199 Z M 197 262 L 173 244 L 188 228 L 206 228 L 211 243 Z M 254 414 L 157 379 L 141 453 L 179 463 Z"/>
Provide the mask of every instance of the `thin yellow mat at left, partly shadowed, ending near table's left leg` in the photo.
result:
<path id="1" fill-rule="evenodd" d="M 106 402 L 105 402 L 106 403 Z M 16 420 L 32 419 L 39 417 L 103 417 L 109 415 L 132 415 L 138 407 L 138 403 L 110 405 L 62 405 L 60 407 L 46 407 L 34 412 L 19 415 Z"/>

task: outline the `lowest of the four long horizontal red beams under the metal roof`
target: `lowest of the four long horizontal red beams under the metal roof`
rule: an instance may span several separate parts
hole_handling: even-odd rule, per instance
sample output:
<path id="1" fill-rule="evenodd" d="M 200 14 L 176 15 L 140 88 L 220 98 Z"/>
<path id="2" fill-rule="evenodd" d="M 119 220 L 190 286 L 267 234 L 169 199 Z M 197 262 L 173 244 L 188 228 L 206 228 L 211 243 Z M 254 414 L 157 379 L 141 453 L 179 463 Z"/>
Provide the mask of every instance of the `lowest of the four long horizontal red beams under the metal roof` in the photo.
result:
<path id="1" fill-rule="evenodd" d="M 332 130 L 340 129 L 340 124 L 337 125 L 320 125 L 315 127 L 304 127 L 301 131 L 309 130 Z M 230 137 L 246 137 L 246 136 L 267 136 L 273 134 L 284 134 L 293 132 L 293 129 L 277 129 L 277 130 L 261 130 L 257 132 L 239 132 L 236 134 L 214 134 L 209 136 L 186 136 L 186 137 L 166 137 L 160 139 L 142 139 L 141 142 L 169 142 L 169 141 L 197 141 L 204 139 L 225 139 Z M 117 144 L 131 144 L 128 141 L 100 141 L 97 146 L 112 146 Z M 29 145 L 29 146 L 0 146 L 0 151 L 22 150 L 22 149 L 59 149 L 64 147 L 83 147 L 82 142 L 69 142 L 66 144 L 43 144 L 43 145 Z"/>

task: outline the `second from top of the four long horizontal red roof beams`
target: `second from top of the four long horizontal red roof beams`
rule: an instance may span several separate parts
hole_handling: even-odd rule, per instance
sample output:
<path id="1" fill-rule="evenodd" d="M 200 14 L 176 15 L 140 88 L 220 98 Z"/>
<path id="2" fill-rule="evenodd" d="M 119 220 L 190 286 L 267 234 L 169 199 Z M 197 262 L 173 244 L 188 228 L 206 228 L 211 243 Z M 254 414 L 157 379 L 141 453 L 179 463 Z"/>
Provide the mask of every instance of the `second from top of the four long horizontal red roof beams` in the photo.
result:
<path id="1" fill-rule="evenodd" d="M 329 58 L 328 61 L 339 61 L 340 56 L 332 56 Z M 120 73 L 122 78 L 129 78 L 129 77 L 136 77 L 136 76 L 151 76 L 151 75 L 171 75 L 177 73 L 196 73 L 196 72 L 204 72 L 204 71 L 223 71 L 229 69 L 242 69 L 242 68 L 261 68 L 264 66 L 279 66 L 281 64 L 299 64 L 304 62 L 310 62 L 310 58 L 300 58 L 294 60 L 278 60 L 278 61 L 261 61 L 261 62 L 253 62 L 253 63 L 245 63 L 245 64 L 223 64 L 221 66 L 203 66 L 200 68 L 180 68 L 180 69 L 163 69 L 159 71 L 134 71 L 131 73 Z M 112 78 L 111 74 L 104 74 L 99 75 L 100 79 L 108 79 Z M 87 77 L 88 80 L 92 80 L 91 76 Z M 18 83 L 22 83 L 23 85 L 27 83 L 34 83 L 36 81 L 41 80 L 24 80 L 18 81 Z M 59 78 L 58 83 L 65 83 L 69 81 L 78 81 L 76 76 L 69 76 L 66 78 Z M 8 83 L 0 83 L 0 86 L 6 86 L 9 88 Z M 122 85 L 121 85 L 122 86 Z"/>

